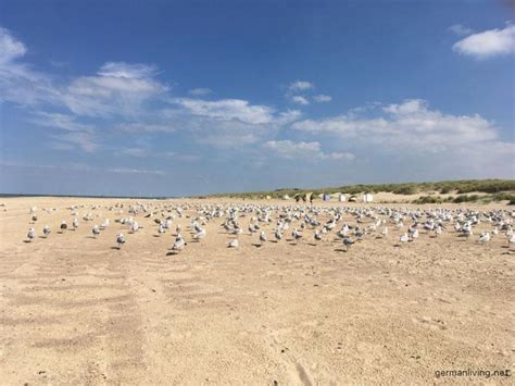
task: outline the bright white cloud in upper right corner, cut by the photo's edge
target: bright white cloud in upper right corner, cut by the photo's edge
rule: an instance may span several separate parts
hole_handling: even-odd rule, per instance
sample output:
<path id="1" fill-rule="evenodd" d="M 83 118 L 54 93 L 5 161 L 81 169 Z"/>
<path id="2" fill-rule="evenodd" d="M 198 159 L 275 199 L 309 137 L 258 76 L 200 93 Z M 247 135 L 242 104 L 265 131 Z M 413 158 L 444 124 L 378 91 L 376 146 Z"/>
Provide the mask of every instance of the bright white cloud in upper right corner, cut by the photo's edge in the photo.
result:
<path id="1" fill-rule="evenodd" d="M 515 25 L 467 36 L 454 43 L 453 50 L 477 59 L 488 59 L 514 52 Z"/>

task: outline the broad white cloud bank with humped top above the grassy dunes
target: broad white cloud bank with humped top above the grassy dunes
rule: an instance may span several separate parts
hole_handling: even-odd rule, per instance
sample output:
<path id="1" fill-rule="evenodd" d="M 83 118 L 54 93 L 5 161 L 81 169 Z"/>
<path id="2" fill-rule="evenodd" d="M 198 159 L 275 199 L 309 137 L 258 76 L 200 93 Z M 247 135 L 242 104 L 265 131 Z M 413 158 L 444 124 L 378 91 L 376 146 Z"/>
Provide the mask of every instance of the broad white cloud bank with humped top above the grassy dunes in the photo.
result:
<path id="1" fill-rule="evenodd" d="M 494 140 L 498 132 L 479 115 L 451 115 L 429 110 L 423 100 L 406 100 L 382 109 L 381 116 L 360 117 L 355 113 L 324 120 L 304 120 L 293 129 L 330 134 L 360 144 L 384 144 L 389 148 L 441 150 L 452 146 Z"/>

